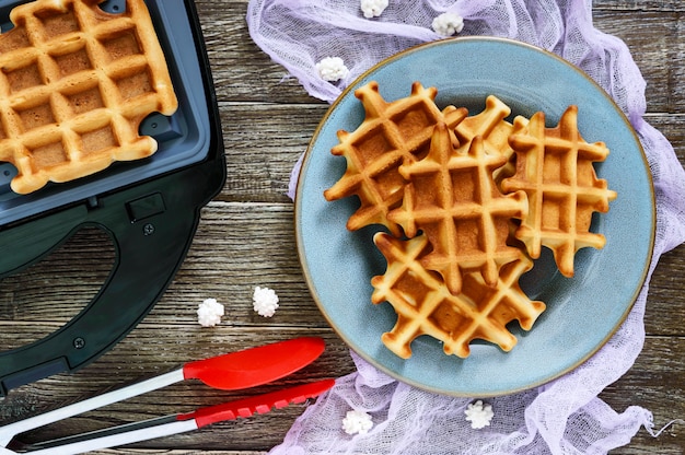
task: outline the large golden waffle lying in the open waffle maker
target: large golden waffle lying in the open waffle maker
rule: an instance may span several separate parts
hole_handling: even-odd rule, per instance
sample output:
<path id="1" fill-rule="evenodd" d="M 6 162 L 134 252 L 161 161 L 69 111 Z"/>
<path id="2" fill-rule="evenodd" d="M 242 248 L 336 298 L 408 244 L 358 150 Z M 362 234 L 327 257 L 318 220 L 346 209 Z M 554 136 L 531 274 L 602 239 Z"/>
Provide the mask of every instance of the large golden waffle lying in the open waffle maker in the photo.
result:
<path id="1" fill-rule="evenodd" d="M 0 35 L 0 161 L 14 191 L 93 174 L 156 151 L 139 125 L 177 101 L 142 0 L 109 14 L 101 0 L 37 0 Z"/>

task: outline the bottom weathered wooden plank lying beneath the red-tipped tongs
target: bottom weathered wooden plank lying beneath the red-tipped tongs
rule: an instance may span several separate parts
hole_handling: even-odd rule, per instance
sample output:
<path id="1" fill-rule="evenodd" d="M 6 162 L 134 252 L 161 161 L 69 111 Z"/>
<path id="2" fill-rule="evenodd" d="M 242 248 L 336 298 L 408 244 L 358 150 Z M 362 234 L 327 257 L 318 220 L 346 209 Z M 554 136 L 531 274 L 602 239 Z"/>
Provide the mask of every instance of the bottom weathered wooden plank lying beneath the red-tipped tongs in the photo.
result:
<path id="1" fill-rule="evenodd" d="M 321 336 L 326 351 L 314 363 L 272 384 L 248 390 L 216 390 L 198 381 L 186 381 L 140 397 L 28 432 L 23 442 L 36 442 L 115 423 L 186 412 L 309 381 L 337 377 L 352 371 L 349 351 L 330 330 L 277 327 L 235 329 L 214 327 L 199 330 L 187 326 L 142 324 L 98 361 L 73 375 L 60 374 L 13 390 L 2 402 L 4 422 L 103 393 L 141 378 L 171 371 L 189 360 L 202 359 L 297 336 Z M 268 450 L 282 440 L 292 421 L 304 409 L 295 405 L 252 419 L 224 422 L 199 432 L 137 444 L 147 448 Z M 246 436 L 252 435 L 252 436 Z"/>

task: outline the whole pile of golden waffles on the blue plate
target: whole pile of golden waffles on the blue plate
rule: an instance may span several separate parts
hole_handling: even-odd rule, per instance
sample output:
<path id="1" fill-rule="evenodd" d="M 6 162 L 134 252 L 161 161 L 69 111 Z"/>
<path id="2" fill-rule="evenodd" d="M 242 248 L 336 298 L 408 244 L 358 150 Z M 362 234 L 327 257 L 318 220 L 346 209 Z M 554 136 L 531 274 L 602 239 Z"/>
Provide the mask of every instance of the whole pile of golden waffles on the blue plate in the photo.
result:
<path id="1" fill-rule="evenodd" d="M 545 310 L 519 284 L 541 247 L 572 277 L 579 248 L 604 246 L 590 224 L 616 197 L 593 167 L 607 148 L 582 139 L 576 106 L 546 128 L 542 112 L 509 122 L 511 109 L 496 96 L 473 116 L 440 109 L 437 90 L 418 82 L 391 103 L 375 82 L 355 94 L 365 119 L 338 132 L 332 153 L 345 156 L 347 171 L 324 196 L 359 198 L 349 230 L 387 229 L 373 237 L 387 268 L 371 280 L 371 301 L 397 314 L 384 345 L 405 359 L 422 335 L 461 358 L 475 339 L 511 350 L 507 325 L 530 330 Z"/>

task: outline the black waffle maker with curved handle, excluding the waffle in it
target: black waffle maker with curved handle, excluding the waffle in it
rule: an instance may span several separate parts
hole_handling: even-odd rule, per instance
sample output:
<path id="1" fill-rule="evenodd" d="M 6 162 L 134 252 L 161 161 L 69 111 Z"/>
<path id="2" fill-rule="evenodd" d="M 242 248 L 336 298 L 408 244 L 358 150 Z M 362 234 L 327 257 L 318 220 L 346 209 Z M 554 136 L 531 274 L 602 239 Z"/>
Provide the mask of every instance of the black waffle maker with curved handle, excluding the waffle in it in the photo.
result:
<path id="1" fill-rule="evenodd" d="M 2 31 L 26 1 L 0 0 Z M 0 394 L 92 362 L 124 338 L 162 296 L 181 267 L 200 209 L 225 182 L 225 159 L 213 83 L 193 0 L 146 1 L 171 72 L 178 109 L 152 114 L 141 133 L 152 156 L 30 195 L 10 189 L 16 168 L 0 163 L 0 278 L 21 272 L 77 231 L 104 230 L 113 241 L 113 270 L 93 300 L 47 337 L 0 353 Z M 105 11 L 125 11 L 107 0 Z M 1 349 L 1 347 L 0 347 Z"/>

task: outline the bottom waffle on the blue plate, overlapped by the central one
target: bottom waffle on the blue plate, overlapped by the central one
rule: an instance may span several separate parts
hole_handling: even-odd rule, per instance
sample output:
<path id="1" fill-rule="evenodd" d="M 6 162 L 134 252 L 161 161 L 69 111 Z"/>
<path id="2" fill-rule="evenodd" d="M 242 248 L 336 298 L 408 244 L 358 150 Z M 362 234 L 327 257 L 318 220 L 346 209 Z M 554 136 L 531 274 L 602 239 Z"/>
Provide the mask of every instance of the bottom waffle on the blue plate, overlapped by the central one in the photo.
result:
<path id="1" fill-rule="evenodd" d="M 507 324 L 516 319 L 530 330 L 545 310 L 544 303 L 531 301 L 519 285 L 521 275 L 532 267 L 525 257 L 503 266 L 495 288 L 480 273 L 467 273 L 462 292 L 453 294 L 438 273 L 421 264 L 431 248 L 425 235 L 402 241 L 376 233 L 373 242 L 385 256 L 387 269 L 371 280 L 371 300 L 387 301 L 397 313 L 395 326 L 383 334 L 382 341 L 403 359 L 411 355 L 411 341 L 422 335 L 442 341 L 446 354 L 461 358 L 468 357 L 474 339 L 509 351 L 516 338 Z"/>

